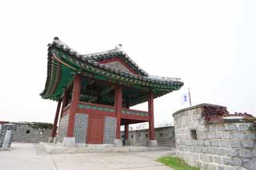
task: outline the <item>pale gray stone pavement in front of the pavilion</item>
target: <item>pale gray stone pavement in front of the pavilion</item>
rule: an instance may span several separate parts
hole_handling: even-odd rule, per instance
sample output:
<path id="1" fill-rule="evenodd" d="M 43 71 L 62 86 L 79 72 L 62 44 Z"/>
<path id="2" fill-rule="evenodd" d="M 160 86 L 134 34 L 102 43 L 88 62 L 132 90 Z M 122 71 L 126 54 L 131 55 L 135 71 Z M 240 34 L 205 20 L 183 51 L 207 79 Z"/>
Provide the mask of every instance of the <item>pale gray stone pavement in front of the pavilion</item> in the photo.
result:
<path id="1" fill-rule="evenodd" d="M 5 170 L 170 170 L 171 168 L 155 161 L 160 156 L 170 155 L 171 151 L 161 152 L 115 152 L 77 153 L 50 155 L 39 144 L 13 143 L 9 151 L 0 152 L 0 169 Z"/>

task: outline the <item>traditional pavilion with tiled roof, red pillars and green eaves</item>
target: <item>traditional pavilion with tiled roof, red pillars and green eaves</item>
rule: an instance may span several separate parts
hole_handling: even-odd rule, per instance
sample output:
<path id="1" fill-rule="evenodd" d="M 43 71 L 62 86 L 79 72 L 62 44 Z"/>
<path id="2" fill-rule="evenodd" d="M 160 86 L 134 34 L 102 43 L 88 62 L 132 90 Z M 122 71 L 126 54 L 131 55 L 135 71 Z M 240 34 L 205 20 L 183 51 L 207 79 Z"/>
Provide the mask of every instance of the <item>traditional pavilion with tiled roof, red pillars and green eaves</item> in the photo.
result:
<path id="1" fill-rule="evenodd" d="M 58 38 L 48 45 L 44 99 L 58 101 L 51 139 L 64 146 L 122 146 L 121 125 L 128 140 L 129 125 L 149 122 L 149 146 L 154 138 L 154 98 L 178 90 L 178 78 L 151 76 L 122 50 L 81 55 Z M 148 101 L 148 111 L 130 109 Z M 59 124 L 58 124 L 59 119 Z M 58 127 L 58 134 L 57 134 Z"/>

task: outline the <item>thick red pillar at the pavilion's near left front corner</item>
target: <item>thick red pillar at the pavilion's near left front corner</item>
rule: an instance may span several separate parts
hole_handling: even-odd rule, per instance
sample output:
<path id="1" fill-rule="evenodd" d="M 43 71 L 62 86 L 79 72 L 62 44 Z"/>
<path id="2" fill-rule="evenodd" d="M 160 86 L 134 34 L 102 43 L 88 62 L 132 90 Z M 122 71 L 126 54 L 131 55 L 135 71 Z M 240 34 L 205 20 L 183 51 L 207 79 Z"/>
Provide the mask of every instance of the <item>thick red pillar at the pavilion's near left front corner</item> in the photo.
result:
<path id="1" fill-rule="evenodd" d="M 73 137 L 74 130 L 74 117 L 78 108 L 78 102 L 80 99 L 80 90 L 81 90 L 81 75 L 77 74 L 74 76 L 74 84 L 73 84 L 73 92 L 72 98 L 70 102 L 70 115 L 69 115 L 69 123 L 67 126 L 66 136 Z"/>

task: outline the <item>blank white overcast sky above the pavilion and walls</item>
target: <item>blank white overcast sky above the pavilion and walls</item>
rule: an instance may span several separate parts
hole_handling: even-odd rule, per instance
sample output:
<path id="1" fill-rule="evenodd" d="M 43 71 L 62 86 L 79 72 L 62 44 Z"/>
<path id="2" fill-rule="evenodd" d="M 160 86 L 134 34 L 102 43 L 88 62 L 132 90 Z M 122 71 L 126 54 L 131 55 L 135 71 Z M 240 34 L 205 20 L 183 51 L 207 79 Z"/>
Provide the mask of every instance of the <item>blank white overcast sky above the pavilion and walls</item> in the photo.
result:
<path id="1" fill-rule="evenodd" d="M 47 44 L 78 53 L 123 49 L 146 72 L 181 77 L 184 88 L 154 101 L 155 124 L 185 106 L 225 105 L 256 116 L 256 1 L 2 1 L 0 120 L 53 122 L 57 103 L 39 93 Z M 146 109 L 138 105 L 136 109 Z"/>

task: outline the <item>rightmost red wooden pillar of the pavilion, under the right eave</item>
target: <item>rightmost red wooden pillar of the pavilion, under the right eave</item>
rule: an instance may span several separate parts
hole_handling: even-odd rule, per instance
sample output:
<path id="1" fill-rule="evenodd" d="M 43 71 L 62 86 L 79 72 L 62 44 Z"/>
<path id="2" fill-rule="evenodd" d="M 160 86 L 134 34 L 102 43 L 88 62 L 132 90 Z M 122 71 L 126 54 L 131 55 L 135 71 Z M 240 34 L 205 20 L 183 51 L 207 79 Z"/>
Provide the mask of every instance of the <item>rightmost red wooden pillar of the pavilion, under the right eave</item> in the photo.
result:
<path id="1" fill-rule="evenodd" d="M 154 93 L 151 92 L 148 101 L 150 114 L 150 140 L 154 140 Z"/>

